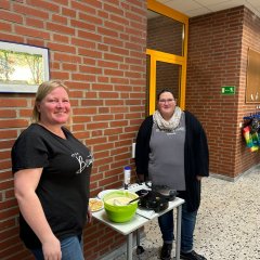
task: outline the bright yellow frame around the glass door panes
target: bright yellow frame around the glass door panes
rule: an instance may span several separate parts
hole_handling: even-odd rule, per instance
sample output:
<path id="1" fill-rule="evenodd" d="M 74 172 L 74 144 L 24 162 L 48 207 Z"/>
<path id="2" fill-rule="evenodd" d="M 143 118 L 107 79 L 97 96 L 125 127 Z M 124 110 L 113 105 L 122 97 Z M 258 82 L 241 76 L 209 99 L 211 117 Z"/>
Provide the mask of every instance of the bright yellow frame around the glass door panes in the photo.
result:
<path id="1" fill-rule="evenodd" d="M 170 9 L 155 0 L 147 0 L 147 9 L 160 13 L 165 16 L 179 21 L 184 26 L 183 34 L 183 53 L 182 56 L 164 53 L 159 51 L 154 51 L 151 49 L 146 49 L 146 54 L 151 56 L 150 64 L 150 115 L 154 113 L 156 109 L 156 62 L 167 62 L 172 64 L 181 65 L 181 84 L 180 84 L 180 100 L 179 105 L 182 109 L 185 108 L 185 90 L 186 90 L 186 60 L 187 60 L 187 34 L 188 34 L 188 16 Z"/>

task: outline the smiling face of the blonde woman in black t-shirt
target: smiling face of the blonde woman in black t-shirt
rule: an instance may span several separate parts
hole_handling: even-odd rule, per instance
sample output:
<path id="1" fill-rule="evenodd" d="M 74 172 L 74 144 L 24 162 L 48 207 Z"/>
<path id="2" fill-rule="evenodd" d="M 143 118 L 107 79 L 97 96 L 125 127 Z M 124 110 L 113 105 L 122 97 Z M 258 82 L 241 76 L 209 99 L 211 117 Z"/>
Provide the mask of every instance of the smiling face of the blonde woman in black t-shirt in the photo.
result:
<path id="1" fill-rule="evenodd" d="M 70 113 L 67 91 L 57 87 L 51 91 L 39 104 L 40 121 L 47 125 L 64 125 Z"/>

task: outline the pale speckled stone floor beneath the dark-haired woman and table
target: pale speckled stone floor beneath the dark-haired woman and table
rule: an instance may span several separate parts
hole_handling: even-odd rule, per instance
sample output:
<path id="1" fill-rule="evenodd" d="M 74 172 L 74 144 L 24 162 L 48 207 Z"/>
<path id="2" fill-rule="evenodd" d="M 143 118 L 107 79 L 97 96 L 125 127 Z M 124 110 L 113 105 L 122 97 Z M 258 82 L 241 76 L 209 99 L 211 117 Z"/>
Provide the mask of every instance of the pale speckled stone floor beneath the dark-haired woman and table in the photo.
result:
<path id="1" fill-rule="evenodd" d="M 133 260 L 159 259 L 157 220 L 145 226 L 145 252 Z M 203 179 L 202 205 L 194 234 L 194 249 L 207 260 L 260 259 L 260 167 L 236 182 Z M 174 251 L 172 251 L 173 256 Z M 115 258 L 126 260 L 126 255 Z"/>

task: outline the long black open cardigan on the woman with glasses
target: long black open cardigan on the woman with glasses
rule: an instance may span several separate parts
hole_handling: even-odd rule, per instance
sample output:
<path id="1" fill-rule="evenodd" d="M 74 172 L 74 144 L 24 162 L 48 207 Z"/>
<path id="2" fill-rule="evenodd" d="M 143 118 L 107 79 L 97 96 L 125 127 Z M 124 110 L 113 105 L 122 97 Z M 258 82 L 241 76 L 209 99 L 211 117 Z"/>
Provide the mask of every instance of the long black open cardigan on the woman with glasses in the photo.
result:
<path id="1" fill-rule="evenodd" d="M 196 176 L 209 176 L 209 152 L 207 136 L 202 123 L 190 112 L 185 113 L 185 143 L 184 143 L 184 172 L 186 192 L 180 193 L 186 202 L 188 211 L 197 210 L 200 203 L 200 181 Z M 148 177 L 150 139 L 153 128 L 153 116 L 148 116 L 142 122 L 135 145 L 136 174 Z"/>

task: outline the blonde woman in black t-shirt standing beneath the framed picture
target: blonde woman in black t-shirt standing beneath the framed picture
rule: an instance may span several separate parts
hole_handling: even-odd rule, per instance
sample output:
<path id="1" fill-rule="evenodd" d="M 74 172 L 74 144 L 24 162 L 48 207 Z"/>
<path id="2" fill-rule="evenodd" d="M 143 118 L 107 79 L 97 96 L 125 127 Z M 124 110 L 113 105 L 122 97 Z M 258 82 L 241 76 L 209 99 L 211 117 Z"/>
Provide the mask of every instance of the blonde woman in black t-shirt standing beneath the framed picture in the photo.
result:
<path id="1" fill-rule="evenodd" d="M 12 148 L 20 235 L 37 260 L 83 260 L 82 229 L 92 167 L 90 151 L 65 127 L 68 89 L 60 81 L 39 86 L 32 123 Z"/>

